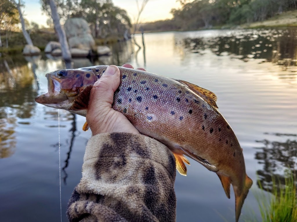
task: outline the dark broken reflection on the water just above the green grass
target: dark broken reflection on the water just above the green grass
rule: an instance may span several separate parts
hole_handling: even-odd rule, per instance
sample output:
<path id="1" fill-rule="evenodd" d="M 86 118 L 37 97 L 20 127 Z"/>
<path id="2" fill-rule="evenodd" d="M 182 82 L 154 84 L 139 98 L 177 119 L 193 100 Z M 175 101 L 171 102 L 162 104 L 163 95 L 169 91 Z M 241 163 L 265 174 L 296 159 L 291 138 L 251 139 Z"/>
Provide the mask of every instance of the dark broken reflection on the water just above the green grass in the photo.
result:
<path id="1" fill-rule="evenodd" d="M 295 134 L 274 133 L 275 136 L 296 136 Z M 260 185 L 266 191 L 272 192 L 273 178 L 284 185 L 286 171 L 293 172 L 297 178 L 297 141 L 296 139 L 287 139 L 286 141 L 269 141 L 267 139 L 256 141 L 262 144 L 257 147 L 255 159 L 263 165 L 262 170 L 257 170 L 259 177 L 257 185 Z"/>

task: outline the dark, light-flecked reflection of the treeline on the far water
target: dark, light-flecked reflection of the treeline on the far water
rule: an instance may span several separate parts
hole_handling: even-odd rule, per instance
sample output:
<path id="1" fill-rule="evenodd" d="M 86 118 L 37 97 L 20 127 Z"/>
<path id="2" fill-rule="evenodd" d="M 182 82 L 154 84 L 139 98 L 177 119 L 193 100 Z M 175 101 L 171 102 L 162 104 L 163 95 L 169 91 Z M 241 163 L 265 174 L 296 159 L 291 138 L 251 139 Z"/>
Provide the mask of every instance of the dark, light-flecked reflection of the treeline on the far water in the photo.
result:
<path id="1" fill-rule="evenodd" d="M 279 78 L 296 79 L 296 36 L 296 29 L 234 30 L 223 36 L 209 36 L 206 33 L 194 36 L 189 33 L 187 38 L 180 38 L 177 35 L 175 44 L 190 53 L 203 55 L 206 49 L 210 49 L 217 56 L 230 55 L 245 62 L 253 59 L 272 62 L 290 72 L 279 73 Z"/>

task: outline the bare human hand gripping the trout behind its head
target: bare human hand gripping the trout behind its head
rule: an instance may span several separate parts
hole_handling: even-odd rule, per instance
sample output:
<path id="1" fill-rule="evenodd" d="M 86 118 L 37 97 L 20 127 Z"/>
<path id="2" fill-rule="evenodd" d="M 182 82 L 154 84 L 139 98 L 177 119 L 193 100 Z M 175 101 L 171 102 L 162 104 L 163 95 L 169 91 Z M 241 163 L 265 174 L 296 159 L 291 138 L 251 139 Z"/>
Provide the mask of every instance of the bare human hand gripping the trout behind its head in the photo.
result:
<path id="1" fill-rule="evenodd" d="M 123 67 L 134 68 L 130 64 L 124 64 Z M 138 69 L 145 71 L 143 68 Z M 139 134 L 138 130 L 121 112 L 111 108 L 113 94 L 119 85 L 120 70 L 115 65 L 110 65 L 104 75 L 94 83 L 86 115 L 93 135 L 113 132 Z"/>

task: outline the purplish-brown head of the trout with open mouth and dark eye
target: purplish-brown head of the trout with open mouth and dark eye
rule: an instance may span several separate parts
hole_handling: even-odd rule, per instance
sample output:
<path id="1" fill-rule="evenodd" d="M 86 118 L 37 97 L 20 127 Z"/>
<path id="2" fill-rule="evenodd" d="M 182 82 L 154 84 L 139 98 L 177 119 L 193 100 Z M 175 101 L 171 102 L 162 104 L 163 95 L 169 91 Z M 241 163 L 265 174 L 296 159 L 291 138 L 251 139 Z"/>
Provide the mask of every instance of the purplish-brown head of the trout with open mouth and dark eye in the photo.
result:
<path id="1" fill-rule="evenodd" d="M 62 69 L 47 73 L 48 92 L 35 101 L 48 107 L 68 110 L 81 91 L 97 81 L 92 70 Z"/>

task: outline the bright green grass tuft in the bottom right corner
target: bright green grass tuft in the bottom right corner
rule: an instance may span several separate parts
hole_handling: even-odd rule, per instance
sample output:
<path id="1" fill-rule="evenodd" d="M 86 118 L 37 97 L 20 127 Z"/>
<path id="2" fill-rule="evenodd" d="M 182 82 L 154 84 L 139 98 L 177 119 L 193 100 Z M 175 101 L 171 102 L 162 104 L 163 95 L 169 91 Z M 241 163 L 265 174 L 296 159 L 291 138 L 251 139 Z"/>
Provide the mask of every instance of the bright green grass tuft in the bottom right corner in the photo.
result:
<path id="1" fill-rule="evenodd" d="M 259 183 L 263 191 L 262 185 Z M 264 194 L 264 193 L 263 193 Z M 285 184 L 281 184 L 275 177 L 272 178 L 271 199 L 264 195 L 257 196 L 260 213 L 263 222 L 296 222 L 297 199 L 296 184 L 292 173 L 287 173 Z"/>

